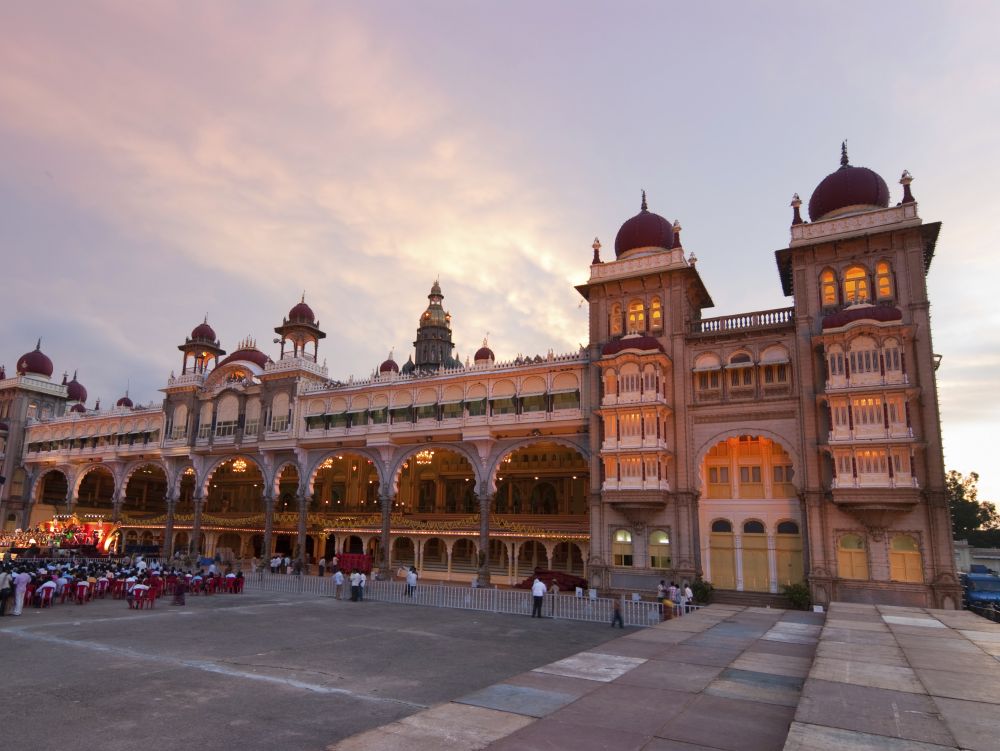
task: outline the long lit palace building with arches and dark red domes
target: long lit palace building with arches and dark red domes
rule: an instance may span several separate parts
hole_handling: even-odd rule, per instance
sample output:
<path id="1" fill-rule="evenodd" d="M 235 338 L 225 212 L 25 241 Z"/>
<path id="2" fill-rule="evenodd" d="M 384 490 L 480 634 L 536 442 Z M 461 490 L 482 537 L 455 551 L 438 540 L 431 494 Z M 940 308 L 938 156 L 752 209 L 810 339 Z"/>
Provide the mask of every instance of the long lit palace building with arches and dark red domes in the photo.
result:
<path id="1" fill-rule="evenodd" d="M 156 406 L 91 409 L 36 346 L 0 371 L 4 530 L 72 512 L 166 555 L 957 607 L 926 285 L 940 224 L 911 181 L 892 203 L 844 149 L 809 221 L 792 201 L 789 304 L 714 318 L 680 224 L 644 194 L 613 257 L 594 242 L 589 344 L 568 354 L 501 362 L 484 342 L 459 362 L 438 282 L 413 355 L 347 382 L 304 298 L 274 359 L 195 326 Z"/>

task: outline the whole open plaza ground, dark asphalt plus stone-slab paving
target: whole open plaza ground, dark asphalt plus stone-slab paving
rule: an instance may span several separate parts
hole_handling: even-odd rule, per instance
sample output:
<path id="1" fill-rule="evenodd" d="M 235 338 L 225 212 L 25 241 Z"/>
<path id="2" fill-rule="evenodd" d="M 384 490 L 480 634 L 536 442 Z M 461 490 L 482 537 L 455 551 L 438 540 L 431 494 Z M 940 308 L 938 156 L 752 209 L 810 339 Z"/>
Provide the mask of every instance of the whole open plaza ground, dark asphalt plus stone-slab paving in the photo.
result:
<path id="1" fill-rule="evenodd" d="M 651 628 L 302 595 L 0 620 L 19 743 L 157 751 L 997 751 L 1000 626 L 713 605 Z"/>

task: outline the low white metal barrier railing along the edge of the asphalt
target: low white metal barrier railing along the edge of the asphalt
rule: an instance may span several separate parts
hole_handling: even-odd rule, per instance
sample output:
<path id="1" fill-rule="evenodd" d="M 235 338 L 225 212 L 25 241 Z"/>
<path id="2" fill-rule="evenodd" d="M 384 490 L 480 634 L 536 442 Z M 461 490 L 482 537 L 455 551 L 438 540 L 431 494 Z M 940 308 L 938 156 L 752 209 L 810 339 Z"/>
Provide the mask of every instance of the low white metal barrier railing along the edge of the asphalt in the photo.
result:
<path id="1" fill-rule="evenodd" d="M 336 594 L 332 577 L 289 576 L 271 574 L 266 571 L 247 576 L 246 589 L 248 591 L 310 594 L 326 597 L 333 597 Z M 350 584 L 345 581 L 341 597 L 350 597 L 350 592 Z M 533 605 L 531 592 L 523 589 L 418 584 L 411 596 L 407 594 L 404 582 L 377 580 L 368 582 L 364 598 L 400 605 L 425 605 L 510 615 L 530 615 Z M 613 597 L 575 597 L 571 594 L 546 595 L 542 604 L 542 614 L 552 618 L 610 624 L 614 613 L 615 599 Z M 656 625 L 663 620 L 664 608 L 670 608 L 671 615 L 674 617 L 682 615 L 679 605 L 663 605 L 648 600 L 622 599 L 619 602 L 622 620 L 626 626 Z M 698 605 L 688 605 L 687 610 L 691 612 L 699 607 Z"/>

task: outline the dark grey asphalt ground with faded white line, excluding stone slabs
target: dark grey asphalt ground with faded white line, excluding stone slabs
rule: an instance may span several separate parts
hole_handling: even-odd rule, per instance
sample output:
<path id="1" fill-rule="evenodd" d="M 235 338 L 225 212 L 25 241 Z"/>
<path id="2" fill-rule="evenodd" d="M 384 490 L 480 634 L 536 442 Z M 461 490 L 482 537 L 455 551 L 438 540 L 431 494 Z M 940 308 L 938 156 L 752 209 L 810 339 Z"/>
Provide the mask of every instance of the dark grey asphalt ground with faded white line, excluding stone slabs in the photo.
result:
<path id="1" fill-rule="evenodd" d="M 621 635 L 300 595 L 167 603 L 131 611 L 107 599 L 0 618 L 4 746 L 325 749 Z"/>

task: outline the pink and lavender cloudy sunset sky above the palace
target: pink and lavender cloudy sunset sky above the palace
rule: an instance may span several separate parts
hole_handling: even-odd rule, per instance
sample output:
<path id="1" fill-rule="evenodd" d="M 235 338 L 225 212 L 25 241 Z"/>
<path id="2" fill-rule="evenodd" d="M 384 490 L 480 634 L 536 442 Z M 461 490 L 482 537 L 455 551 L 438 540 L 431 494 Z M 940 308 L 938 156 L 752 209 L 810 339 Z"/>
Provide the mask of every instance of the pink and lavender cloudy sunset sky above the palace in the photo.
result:
<path id="1" fill-rule="evenodd" d="M 707 314 L 783 307 L 788 202 L 846 138 L 944 222 L 946 461 L 1000 499 L 997 28 L 995 2 L 7 3 L 0 363 L 42 337 L 90 406 L 150 402 L 206 314 L 277 356 L 305 290 L 331 376 L 365 376 L 437 276 L 463 359 L 487 331 L 575 350 L 572 285 L 641 188 Z"/>

